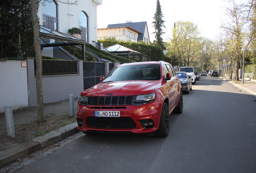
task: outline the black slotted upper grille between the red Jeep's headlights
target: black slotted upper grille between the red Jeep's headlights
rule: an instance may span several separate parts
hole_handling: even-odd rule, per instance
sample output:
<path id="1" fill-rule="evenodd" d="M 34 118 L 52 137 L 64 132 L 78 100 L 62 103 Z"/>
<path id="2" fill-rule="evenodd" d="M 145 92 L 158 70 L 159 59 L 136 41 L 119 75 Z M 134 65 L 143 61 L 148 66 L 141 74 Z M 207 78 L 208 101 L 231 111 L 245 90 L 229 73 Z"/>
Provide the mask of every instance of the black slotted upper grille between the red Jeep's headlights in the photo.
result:
<path id="1" fill-rule="evenodd" d="M 134 96 L 88 97 L 88 105 L 131 105 Z"/>

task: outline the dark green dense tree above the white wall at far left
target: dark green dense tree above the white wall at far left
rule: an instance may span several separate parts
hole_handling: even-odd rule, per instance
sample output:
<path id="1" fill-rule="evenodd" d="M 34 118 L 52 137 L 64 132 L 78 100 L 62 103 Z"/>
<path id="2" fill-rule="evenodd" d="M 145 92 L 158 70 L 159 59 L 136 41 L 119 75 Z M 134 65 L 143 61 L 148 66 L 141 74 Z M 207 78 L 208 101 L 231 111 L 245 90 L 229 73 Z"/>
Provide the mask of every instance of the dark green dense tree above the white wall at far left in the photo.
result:
<path id="1" fill-rule="evenodd" d="M 2 0 L 0 11 L 0 59 L 35 56 L 30 0 Z"/>

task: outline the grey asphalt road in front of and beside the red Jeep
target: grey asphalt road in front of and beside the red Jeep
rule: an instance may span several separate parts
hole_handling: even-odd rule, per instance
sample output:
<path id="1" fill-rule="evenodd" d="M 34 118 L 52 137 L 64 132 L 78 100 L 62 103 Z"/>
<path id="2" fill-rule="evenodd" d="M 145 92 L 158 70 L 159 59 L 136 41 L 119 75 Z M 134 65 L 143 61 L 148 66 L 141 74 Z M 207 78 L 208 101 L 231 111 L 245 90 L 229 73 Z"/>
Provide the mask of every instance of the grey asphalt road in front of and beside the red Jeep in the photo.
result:
<path id="1" fill-rule="evenodd" d="M 166 138 L 83 135 L 17 173 L 255 173 L 255 99 L 201 77 Z"/>

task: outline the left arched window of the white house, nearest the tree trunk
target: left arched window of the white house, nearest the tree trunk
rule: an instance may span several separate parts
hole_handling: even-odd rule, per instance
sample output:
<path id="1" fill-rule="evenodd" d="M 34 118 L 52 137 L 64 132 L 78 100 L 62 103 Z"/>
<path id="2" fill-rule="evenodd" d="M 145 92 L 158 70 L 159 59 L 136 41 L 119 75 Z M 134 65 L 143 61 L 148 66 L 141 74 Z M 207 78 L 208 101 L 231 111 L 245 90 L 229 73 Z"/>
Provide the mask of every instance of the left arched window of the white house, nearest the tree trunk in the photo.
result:
<path id="1" fill-rule="evenodd" d="M 58 30 L 57 4 L 54 0 L 45 1 L 43 4 L 43 26 Z"/>

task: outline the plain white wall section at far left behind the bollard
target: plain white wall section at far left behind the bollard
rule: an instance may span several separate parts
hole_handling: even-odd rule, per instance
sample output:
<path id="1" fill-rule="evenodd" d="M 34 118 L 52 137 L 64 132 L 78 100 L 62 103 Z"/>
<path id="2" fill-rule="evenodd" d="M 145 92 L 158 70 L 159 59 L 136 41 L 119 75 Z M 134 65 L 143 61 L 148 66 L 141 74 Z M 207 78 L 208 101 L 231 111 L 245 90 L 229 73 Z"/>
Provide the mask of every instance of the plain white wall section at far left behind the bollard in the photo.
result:
<path id="1" fill-rule="evenodd" d="M 21 67 L 20 60 L 0 60 L 0 74 L 0 113 L 7 105 L 13 110 L 27 107 L 27 68 Z"/>

